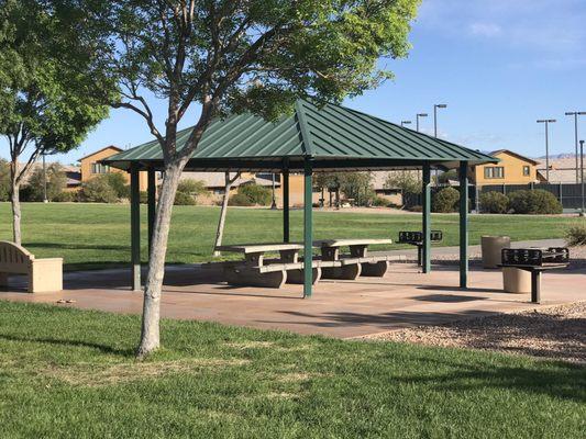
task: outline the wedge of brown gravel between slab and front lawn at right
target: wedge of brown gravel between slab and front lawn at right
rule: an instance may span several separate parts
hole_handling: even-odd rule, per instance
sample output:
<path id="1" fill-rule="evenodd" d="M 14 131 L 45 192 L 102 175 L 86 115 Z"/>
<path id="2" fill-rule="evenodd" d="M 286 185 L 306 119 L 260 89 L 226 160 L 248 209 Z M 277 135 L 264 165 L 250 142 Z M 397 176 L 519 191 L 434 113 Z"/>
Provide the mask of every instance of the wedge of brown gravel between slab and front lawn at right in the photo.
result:
<path id="1" fill-rule="evenodd" d="M 586 364 L 586 302 L 398 329 L 363 339 L 493 350 Z"/>

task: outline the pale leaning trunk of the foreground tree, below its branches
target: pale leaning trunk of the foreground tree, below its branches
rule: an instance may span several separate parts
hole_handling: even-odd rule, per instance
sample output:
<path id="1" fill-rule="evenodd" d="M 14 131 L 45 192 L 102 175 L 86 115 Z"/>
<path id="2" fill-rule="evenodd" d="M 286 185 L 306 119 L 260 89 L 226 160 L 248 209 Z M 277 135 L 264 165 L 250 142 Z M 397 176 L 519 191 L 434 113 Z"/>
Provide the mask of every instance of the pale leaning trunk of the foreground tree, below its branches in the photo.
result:
<path id="1" fill-rule="evenodd" d="M 169 236 L 175 193 L 177 192 L 177 185 L 184 166 L 184 161 L 174 160 L 165 167 L 165 177 L 161 187 L 153 228 L 153 241 L 148 259 L 148 274 L 144 290 L 141 342 L 136 352 L 139 358 L 153 352 L 161 345 L 161 291 L 163 288 L 163 278 L 165 275 L 167 239 Z"/>

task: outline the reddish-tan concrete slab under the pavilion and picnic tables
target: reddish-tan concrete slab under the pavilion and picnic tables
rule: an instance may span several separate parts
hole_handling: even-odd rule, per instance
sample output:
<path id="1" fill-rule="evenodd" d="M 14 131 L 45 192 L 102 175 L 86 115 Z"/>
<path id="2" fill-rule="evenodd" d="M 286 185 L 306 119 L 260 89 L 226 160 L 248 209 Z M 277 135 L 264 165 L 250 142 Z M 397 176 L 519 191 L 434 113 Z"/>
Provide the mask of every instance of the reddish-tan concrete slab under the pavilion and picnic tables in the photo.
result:
<path id="1" fill-rule="evenodd" d="M 545 273 L 541 305 L 531 304 L 529 294 L 504 293 L 499 270 L 472 270 L 471 288 L 464 291 L 456 286 L 455 267 L 434 267 L 432 273 L 422 274 L 413 264 L 395 263 L 384 278 L 322 281 L 307 300 L 301 299 L 302 285 L 236 288 L 209 283 L 204 275 L 197 266 L 168 267 L 162 315 L 351 338 L 586 300 L 586 268 Z M 66 299 L 75 303 L 58 306 L 137 314 L 143 297 L 130 291 L 130 270 L 122 269 L 70 272 L 65 274 L 64 291 L 29 294 L 23 280 L 14 278 L 14 286 L 0 290 L 0 300 L 56 303 Z"/>

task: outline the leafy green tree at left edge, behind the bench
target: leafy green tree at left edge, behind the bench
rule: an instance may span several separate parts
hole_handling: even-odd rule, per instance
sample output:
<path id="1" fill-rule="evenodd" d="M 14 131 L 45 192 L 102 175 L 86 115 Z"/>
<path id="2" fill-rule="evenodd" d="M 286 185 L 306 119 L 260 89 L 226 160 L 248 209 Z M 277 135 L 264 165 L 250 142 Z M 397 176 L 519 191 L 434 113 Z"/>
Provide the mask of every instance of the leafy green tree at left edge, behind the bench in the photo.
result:
<path id="1" fill-rule="evenodd" d="M 89 91 L 113 90 L 93 63 L 93 43 L 78 34 L 79 16 L 69 7 L 66 0 L 7 0 L 0 10 L 0 135 L 9 144 L 13 240 L 19 245 L 20 187 L 32 164 L 41 154 L 75 148 L 108 114 Z"/>

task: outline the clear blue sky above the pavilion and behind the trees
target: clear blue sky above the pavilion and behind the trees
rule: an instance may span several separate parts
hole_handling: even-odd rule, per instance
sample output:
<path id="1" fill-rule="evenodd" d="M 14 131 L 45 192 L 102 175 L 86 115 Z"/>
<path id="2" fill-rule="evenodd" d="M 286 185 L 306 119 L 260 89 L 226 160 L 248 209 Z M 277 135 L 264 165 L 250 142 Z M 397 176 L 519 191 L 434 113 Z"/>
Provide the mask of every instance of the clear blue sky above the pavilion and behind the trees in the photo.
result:
<path id="1" fill-rule="evenodd" d="M 586 111 L 586 1 L 584 0 L 423 0 L 403 60 L 384 60 L 394 81 L 346 105 L 392 122 L 418 112 L 423 131 L 433 130 L 433 103 L 440 135 L 475 149 L 544 154 L 544 127 L 537 119 L 557 119 L 551 127 L 551 154 L 574 150 L 573 120 L 566 111 Z M 155 103 L 158 126 L 164 106 Z M 194 115 L 183 126 L 194 123 Z M 581 122 L 586 139 L 586 116 Z M 106 145 L 135 146 L 150 140 L 144 122 L 128 110 L 112 111 L 81 147 L 62 162 L 75 162 Z M 0 144 L 0 155 L 8 150 Z"/>

